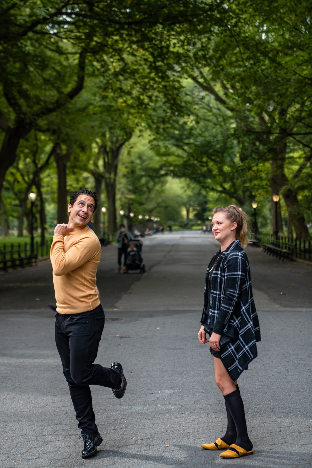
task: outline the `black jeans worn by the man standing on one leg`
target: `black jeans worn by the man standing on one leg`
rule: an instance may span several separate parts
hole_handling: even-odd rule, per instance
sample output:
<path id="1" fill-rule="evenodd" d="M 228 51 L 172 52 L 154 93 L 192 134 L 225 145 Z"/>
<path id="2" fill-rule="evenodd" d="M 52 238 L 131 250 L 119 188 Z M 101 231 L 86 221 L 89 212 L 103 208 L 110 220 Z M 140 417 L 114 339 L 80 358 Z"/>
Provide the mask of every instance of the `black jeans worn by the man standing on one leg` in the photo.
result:
<path id="1" fill-rule="evenodd" d="M 115 370 L 94 364 L 104 322 L 101 304 L 81 314 L 56 314 L 55 342 L 81 434 L 97 431 L 89 385 L 118 388 L 121 383 Z"/>

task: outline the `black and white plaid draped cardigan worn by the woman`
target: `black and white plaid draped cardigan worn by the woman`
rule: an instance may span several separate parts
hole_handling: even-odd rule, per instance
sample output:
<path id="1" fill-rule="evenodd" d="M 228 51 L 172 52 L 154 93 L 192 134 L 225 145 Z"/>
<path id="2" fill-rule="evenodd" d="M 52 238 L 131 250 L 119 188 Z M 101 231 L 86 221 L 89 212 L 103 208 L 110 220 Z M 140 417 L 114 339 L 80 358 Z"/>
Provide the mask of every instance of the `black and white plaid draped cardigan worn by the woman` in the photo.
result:
<path id="1" fill-rule="evenodd" d="M 202 324 L 209 335 L 221 336 L 219 355 L 232 380 L 236 380 L 257 357 L 256 342 L 261 340 L 258 315 L 251 288 L 250 265 L 245 250 L 236 239 L 216 262 L 211 259 L 205 280 Z"/>

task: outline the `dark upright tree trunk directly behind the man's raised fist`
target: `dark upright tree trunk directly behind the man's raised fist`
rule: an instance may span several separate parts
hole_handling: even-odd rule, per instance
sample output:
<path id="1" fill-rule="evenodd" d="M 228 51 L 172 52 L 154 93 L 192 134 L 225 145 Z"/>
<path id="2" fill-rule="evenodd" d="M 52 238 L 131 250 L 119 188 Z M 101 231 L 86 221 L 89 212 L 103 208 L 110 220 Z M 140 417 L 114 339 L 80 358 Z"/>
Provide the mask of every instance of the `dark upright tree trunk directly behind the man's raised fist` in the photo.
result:
<path id="1" fill-rule="evenodd" d="M 69 148 L 67 148 L 65 154 L 62 154 L 61 145 L 59 143 L 56 144 L 53 157 L 58 172 L 58 224 L 68 222 L 66 170 L 70 154 Z"/>

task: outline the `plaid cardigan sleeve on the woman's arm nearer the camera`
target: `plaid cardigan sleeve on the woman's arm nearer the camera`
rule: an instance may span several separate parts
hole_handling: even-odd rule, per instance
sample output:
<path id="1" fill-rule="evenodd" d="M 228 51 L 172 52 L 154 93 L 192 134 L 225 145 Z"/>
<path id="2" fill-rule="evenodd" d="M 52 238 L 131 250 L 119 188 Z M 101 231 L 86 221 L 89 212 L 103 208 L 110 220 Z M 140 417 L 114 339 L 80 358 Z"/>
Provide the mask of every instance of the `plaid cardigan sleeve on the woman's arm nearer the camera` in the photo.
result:
<path id="1" fill-rule="evenodd" d="M 240 252 L 233 252 L 228 256 L 224 273 L 224 296 L 221 301 L 217 320 L 213 327 L 213 331 L 218 335 L 222 334 L 239 299 L 245 281 L 246 268 L 246 261 L 242 258 Z"/>

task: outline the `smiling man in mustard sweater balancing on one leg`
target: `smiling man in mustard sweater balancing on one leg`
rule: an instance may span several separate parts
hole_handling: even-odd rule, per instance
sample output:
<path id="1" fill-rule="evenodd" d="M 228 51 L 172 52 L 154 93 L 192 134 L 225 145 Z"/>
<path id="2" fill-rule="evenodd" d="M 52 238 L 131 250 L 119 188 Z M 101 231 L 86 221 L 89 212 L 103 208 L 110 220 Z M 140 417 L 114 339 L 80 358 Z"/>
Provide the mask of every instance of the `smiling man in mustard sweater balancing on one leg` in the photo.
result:
<path id="1" fill-rule="evenodd" d="M 112 388 L 116 398 L 123 397 L 127 386 L 121 364 L 113 362 L 110 368 L 94 364 L 105 320 L 95 286 L 101 245 L 87 226 L 96 207 L 94 192 L 75 192 L 68 205 L 68 224 L 55 227 L 51 245 L 57 301 L 55 342 L 84 441 L 83 458 L 94 454 L 102 443 L 89 385 Z"/>

